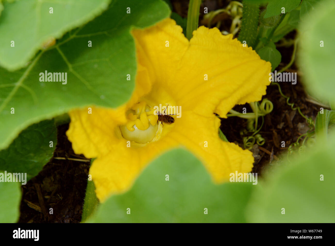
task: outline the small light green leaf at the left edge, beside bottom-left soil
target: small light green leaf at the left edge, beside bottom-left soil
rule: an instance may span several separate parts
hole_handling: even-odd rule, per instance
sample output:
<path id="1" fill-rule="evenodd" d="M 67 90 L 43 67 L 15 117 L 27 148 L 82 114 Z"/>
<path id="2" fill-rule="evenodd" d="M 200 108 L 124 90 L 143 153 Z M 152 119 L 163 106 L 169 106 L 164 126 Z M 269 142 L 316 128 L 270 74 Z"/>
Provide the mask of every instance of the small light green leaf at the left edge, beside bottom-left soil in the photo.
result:
<path id="1" fill-rule="evenodd" d="M 0 182 L 0 197 L 0 223 L 16 223 L 20 216 L 21 184 Z"/>

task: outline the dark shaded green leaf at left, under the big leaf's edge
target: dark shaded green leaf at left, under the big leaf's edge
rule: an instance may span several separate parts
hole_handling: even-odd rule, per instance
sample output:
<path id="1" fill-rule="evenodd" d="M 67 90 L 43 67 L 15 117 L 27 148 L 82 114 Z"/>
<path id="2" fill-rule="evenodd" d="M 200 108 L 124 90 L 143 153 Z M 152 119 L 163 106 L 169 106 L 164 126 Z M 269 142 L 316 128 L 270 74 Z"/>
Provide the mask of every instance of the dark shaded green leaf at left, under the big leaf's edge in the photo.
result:
<path id="1" fill-rule="evenodd" d="M 54 120 L 34 124 L 20 133 L 13 143 L 0 151 L 0 170 L 36 176 L 53 156 L 57 144 Z M 53 146 L 50 147 L 53 142 Z"/>

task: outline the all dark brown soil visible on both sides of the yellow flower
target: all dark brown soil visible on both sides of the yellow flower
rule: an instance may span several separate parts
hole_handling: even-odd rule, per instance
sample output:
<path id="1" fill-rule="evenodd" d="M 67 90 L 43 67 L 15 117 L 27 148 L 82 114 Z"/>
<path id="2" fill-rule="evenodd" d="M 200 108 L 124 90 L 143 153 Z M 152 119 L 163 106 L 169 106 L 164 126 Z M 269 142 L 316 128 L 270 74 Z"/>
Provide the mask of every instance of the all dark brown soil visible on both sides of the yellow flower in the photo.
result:
<path id="1" fill-rule="evenodd" d="M 172 3 L 175 12 L 182 17 L 187 16 L 188 0 L 172 1 Z M 204 4 L 208 7 L 208 11 L 227 5 L 226 1 L 204 1 Z M 201 22 L 202 15 L 199 19 Z M 229 30 L 230 23 L 230 20 L 224 21 L 220 29 Z M 293 38 L 294 35 L 295 32 L 291 32 L 288 36 Z M 289 63 L 293 46 L 278 48 L 278 50 L 282 54 L 282 62 L 276 69 L 277 71 Z M 303 114 L 315 119 L 320 106 L 306 101 L 299 71 L 294 64 L 287 72 L 298 73 L 297 84 L 291 85 L 288 82 L 281 82 L 283 93 L 290 97 L 290 103 L 293 102 L 295 107 L 300 107 Z M 306 120 L 297 110 L 292 110 L 291 106 L 286 104 L 286 99 L 280 95 L 277 86 L 268 86 L 264 97 L 272 101 L 274 108 L 270 114 L 265 116 L 264 126 L 259 132 L 265 139 L 265 144 L 261 147 L 265 150 L 260 150 L 257 146 L 253 150 L 256 157 L 252 172 L 257 172 L 258 175 L 264 173 L 273 156 L 279 156 L 308 130 Z M 234 109 L 242 112 L 243 107 L 246 107 L 248 112 L 251 111 L 249 104 L 237 105 Z M 239 117 L 221 120 L 221 130 L 228 141 L 235 142 L 242 147 L 240 130 L 246 125 L 247 120 Z M 71 143 L 65 135 L 67 129 L 68 124 L 58 127 L 58 144 L 54 157 L 35 178 L 22 186 L 20 223 L 79 223 L 81 221 L 90 162 L 87 162 L 85 157 L 73 153 Z M 285 148 L 281 148 L 281 141 L 285 141 Z M 55 157 L 66 157 L 66 159 L 55 159 Z M 82 159 L 82 161 L 69 160 L 68 158 Z M 53 215 L 49 215 L 51 207 Z"/>

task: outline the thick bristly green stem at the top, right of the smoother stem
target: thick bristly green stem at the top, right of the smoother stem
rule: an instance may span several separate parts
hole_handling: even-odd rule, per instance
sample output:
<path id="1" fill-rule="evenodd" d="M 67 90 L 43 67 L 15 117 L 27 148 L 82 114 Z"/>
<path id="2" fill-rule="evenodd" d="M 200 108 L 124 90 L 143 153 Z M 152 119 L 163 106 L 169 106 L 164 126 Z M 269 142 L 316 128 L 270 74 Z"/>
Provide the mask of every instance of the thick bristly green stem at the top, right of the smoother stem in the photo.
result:
<path id="1" fill-rule="evenodd" d="M 243 0 L 242 25 L 238 40 L 247 42 L 248 47 L 253 47 L 257 38 L 259 19 L 259 4 L 250 0 Z"/>

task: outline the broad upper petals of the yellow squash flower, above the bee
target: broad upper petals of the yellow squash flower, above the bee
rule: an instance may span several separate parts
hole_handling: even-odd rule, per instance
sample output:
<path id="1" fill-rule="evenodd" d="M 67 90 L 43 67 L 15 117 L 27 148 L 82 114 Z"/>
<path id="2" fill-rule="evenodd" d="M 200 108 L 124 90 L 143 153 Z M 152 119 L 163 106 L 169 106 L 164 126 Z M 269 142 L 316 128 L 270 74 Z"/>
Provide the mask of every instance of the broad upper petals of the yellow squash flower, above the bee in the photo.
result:
<path id="1" fill-rule="evenodd" d="M 217 28 L 200 26 L 189 44 L 171 19 L 133 34 L 139 62 L 154 70 L 155 82 L 186 110 L 226 117 L 235 104 L 259 101 L 270 83 L 271 64 Z"/>

